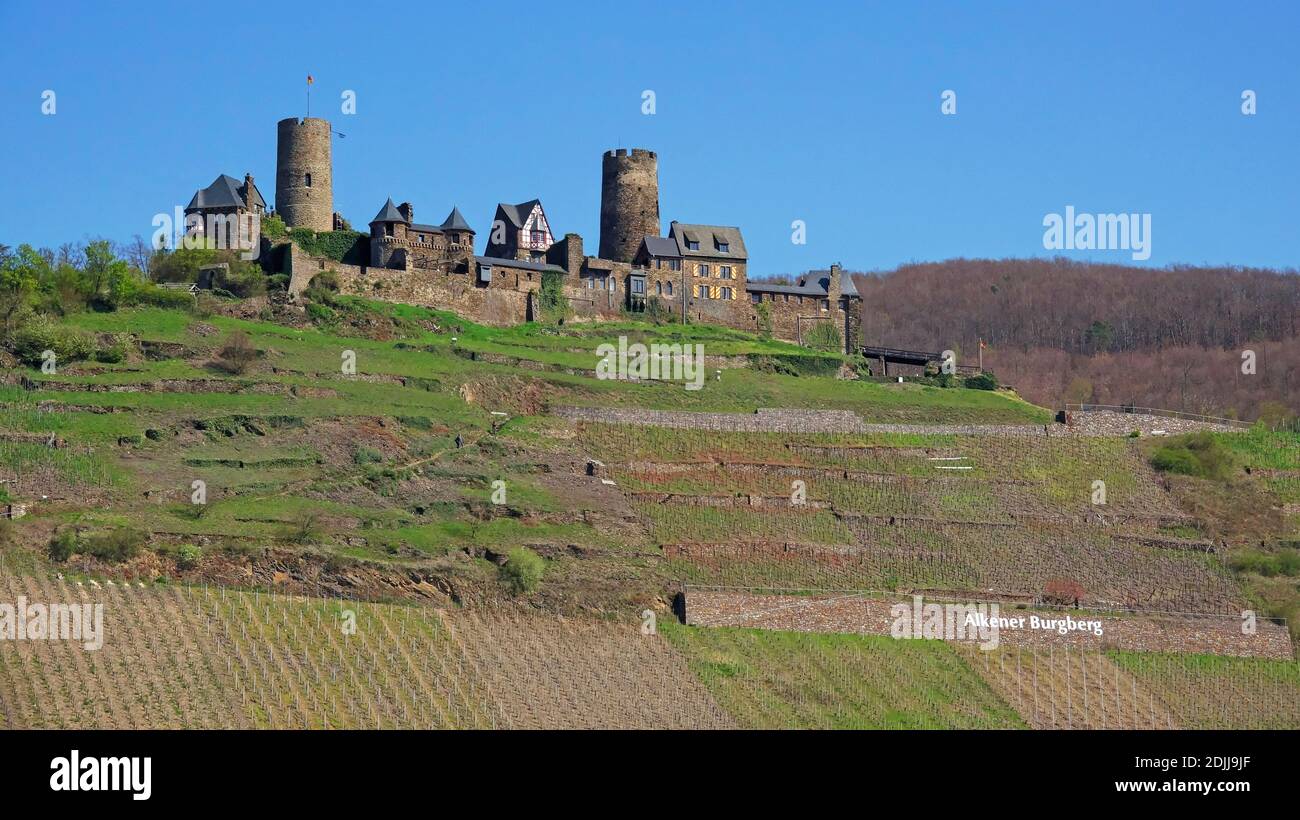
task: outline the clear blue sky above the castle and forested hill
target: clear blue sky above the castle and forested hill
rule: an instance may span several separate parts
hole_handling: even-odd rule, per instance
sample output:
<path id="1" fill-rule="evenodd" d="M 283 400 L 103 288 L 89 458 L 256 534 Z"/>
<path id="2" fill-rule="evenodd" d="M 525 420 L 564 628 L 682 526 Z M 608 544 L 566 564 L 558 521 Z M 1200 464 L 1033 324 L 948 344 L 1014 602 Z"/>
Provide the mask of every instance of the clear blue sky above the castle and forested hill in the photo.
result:
<path id="1" fill-rule="evenodd" d="M 1294 268 L 1297 30 L 1294 3 L 1201 0 L 4 0 L 0 242 L 148 237 L 218 173 L 272 199 L 276 121 L 306 113 L 309 71 L 313 116 L 346 134 L 335 209 L 456 204 L 480 251 L 497 201 L 536 196 L 594 253 L 601 153 L 637 146 L 659 152 L 664 231 L 740 226 L 751 275 L 1050 256 L 1043 220 L 1066 205 L 1152 214 L 1148 265 Z"/>

